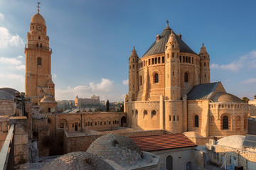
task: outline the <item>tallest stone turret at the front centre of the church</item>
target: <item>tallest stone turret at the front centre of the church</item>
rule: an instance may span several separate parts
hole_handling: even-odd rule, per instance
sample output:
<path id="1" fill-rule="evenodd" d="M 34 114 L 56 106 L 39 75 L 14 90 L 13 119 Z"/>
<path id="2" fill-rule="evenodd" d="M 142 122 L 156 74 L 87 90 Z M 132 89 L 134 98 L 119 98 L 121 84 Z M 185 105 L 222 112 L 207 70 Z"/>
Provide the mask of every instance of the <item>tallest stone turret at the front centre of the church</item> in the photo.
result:
<path id="1" fill-rule="evenodd" d="M 179 62 L 179 45 L 176 40 L 174 31 L 171 30 L 171 35 L 166 43 L 165 57 L 166 57 L 166 84 L 165 96 L 166 100 L 180 100 L 181 99 L 181 82 L 180 82 L 180 62 Z"/>

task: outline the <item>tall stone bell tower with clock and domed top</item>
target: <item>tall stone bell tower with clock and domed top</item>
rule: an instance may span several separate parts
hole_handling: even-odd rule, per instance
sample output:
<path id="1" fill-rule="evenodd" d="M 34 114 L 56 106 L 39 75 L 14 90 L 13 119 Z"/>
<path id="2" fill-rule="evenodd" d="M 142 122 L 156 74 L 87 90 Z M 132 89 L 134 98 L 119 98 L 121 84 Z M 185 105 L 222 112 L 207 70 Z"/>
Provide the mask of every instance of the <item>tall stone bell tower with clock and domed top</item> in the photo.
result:
<path id="1" fill-rule="evenodd" d="M 27 35 L 28 43 L 25 46 L 25 95 L 32 99 L 33 105 L 38 105 L 46 96 L 48 102 L 55 102 L 55 84 L 50 74 L 52 50 L 49 47 L 46 29 L 46 21 L 39 13 L 38 6 L 38 13 L 31 18 L 30 32 Z"/>

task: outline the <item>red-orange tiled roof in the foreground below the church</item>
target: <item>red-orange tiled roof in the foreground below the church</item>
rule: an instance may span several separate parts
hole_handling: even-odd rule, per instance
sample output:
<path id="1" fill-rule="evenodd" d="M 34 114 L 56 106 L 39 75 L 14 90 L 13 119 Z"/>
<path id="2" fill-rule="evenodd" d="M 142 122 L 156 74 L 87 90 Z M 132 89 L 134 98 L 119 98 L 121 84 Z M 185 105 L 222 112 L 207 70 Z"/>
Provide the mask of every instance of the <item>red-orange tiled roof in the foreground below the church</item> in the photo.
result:
<path id="1" fill-rule="evenodd" d="M 180 147 L 196 147 L 196 144 L 194 144 L 182 133 L 138 136 L 130 138 L 138 145 L 140 149 L 142 149 L 142 151 L 155 151 Z"/>

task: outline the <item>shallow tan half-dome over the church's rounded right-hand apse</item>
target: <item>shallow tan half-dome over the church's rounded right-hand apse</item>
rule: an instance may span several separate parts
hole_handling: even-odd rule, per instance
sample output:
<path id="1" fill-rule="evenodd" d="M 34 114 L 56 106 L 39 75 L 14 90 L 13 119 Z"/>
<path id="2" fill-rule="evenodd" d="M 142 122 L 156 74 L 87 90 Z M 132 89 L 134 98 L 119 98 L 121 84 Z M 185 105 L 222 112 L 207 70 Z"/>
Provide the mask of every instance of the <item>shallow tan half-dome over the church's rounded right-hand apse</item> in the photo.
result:
<path id="1" fill-rule="evenodd" d="M 217 93 L 211 98 L 213 102 L 220 102 L 220 103 L 244 103 L 240 98 L 234 96 L 233 94 L 228 93 Z"/>

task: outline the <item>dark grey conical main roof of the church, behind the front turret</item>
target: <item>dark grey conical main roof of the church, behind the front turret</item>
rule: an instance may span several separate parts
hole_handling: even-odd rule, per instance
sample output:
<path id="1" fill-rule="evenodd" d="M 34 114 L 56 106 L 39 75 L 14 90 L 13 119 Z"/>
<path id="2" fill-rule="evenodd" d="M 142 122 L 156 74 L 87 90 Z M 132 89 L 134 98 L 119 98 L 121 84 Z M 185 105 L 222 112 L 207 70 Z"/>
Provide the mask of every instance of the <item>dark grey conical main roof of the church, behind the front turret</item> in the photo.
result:
<path id="1" fill-rule="evenodd" d="M 159 53 L 163 53 L 165 52 L 165 45 L 169 40 L 169 35 L 171 34 L 171 28 L 169 28 L 169 26 L 167 26 L 163 33 L 161 33 L 161 35 L 159 35 L 159 40 L 156 40 L 151 47 L 149 47 L 149 50 L 147 50 L 145 52 L 144 56 L 149 56 L 149 55 L 156 55 Z M 183 42 L 183 40 L 181 40 L 181 38 L 178 38 L 178 35 L 176 35 L 176 40 L 178 42 L 178 45 L 180 45 L 180 50 L 181 52 L 189 52 L 192 54 L 196 54 L 196 52 L 193 52 L 193 50 L 191 50 L 190 47 L 188 47 L 188 45 L 186 45 L 185 42 Z"/>

